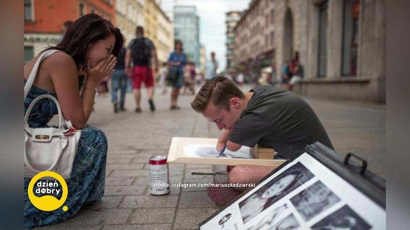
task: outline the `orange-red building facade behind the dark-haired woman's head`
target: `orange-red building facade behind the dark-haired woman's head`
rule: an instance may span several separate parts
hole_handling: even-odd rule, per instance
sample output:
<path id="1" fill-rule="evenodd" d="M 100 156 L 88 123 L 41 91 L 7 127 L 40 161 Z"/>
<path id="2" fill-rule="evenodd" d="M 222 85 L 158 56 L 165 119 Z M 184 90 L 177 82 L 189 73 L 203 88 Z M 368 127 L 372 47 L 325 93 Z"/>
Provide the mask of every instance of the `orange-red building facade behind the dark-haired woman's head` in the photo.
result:
<path id="1" fill-rule="evenodd" d="M 24 0 L 24 63 L 57 45 L 62 24 L 95 13 L 115 24 L 113 0 Z M 52 20 L 50 20 L 52 19 Z"/>

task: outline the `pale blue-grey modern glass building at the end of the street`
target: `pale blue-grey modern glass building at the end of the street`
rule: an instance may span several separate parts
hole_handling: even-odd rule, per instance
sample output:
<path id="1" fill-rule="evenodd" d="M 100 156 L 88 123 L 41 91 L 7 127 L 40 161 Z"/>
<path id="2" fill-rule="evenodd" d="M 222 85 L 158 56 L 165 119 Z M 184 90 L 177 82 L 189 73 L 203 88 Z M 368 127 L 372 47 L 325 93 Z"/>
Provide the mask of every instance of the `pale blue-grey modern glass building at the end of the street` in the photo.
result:
<path id="1" fill-rule="evenodd" d="M 183 42 L 187 61 L 200 68 L 199 17 L 195 6 L 174 6 L 174 38 Z"/>

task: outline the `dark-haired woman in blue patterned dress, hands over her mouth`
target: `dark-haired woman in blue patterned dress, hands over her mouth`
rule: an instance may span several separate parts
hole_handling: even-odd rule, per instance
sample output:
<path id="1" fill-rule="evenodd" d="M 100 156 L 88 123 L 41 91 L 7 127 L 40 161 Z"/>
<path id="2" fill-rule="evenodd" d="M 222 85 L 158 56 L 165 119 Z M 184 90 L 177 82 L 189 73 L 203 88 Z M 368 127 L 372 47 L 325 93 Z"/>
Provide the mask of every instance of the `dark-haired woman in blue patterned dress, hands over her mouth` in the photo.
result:
<path id="1" fill-rule="evenodd" d="M 82 129 L 82 134 L 71 177 L 66 180 L 68 197 L 64 205 L 68 211 L 62 208 L 55 211 L 35 208 L 27 195 L 30 178 L 24 178 L 25 228 L 62 222 L 73 217 L 82 206 L 101 200 L 104 194 L 107 139 L 101 130 L 84 126 L 91 114 L 95 88 L 113 72 L 121 47 L 119 29 L 96 14 L 87 14 L 72 24 L 57 46 L 46 49 L 59 52 L 42 60 L 33 87 L 24 100 L 24 112 L 37 96 L 54 96 L 60 103 L 64 118 L 71 121 L 74 128 Z M 24 65 L 24 84 L 41 54 Z M 81 95 L 78 90 L 80 72 L 86 73 Z M 47 123 L 57 113 L 55 104 L 50 99 L 43 99 L 34 106 L 28 123 L 30 127 L 47 127 Z M 60 197 L 57 195 L 57 198 Z"/>

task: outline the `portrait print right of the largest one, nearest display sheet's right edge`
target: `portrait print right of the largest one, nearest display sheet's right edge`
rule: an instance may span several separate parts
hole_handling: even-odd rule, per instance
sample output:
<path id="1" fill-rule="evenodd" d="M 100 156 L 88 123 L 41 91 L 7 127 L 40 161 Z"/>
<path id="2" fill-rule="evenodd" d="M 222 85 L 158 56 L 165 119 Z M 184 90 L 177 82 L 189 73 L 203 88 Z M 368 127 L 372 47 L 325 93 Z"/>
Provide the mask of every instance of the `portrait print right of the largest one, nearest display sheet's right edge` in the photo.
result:
<path id="1" fill-rule="evenodd" d="M 316 181 L 307 189 L 290 198 L 290 202 L 305 221 L 310 220 L 339 201 L 340 198 L 321 181 Z"/>

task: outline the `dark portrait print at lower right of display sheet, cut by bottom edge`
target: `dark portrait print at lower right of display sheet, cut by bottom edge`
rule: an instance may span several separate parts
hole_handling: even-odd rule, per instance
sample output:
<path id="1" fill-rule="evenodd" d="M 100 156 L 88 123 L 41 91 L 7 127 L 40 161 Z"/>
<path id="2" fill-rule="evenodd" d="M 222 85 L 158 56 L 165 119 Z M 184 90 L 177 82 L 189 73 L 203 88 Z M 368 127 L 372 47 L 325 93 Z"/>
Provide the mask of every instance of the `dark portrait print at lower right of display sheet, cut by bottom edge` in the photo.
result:
<path id="1" fill-rule="evenodd" d="M 312 230 L 369 230 L 371 226 L 345 205 L 311 227 Z"/>

